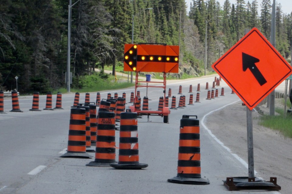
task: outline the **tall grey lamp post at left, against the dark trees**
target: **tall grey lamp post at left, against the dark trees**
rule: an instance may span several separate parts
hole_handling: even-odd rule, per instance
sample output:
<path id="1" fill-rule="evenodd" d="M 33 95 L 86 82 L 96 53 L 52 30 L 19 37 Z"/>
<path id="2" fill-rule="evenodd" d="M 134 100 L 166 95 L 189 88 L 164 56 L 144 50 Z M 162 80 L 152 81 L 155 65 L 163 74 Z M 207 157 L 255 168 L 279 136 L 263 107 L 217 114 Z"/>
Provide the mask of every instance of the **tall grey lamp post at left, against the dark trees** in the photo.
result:
<path id="1" fill-rule="evenodd" d="M 73 5 L 75 5 L 77 2 L 75 2 Z M 68 45 L 67 45 L 68 48 L 67 48 L 67 73 L 66 73 L 67 92 L 70 92 L 71 8 L 73 7 L 73 5 L 72 5 L 72 0 L 70 0 L 69 5 L 68 5 Z"/>

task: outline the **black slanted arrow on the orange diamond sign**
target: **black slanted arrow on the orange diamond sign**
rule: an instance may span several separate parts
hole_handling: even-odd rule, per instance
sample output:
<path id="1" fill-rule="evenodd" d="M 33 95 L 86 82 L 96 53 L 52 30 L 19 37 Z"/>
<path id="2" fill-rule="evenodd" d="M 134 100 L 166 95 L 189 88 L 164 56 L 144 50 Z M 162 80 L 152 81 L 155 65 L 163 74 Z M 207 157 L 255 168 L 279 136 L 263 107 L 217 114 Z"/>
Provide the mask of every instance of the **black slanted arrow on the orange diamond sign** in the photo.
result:
<path id="1" fill-rule="evenodd" d="M 242 69 L 245 72 L 247 69 L 249 69 L 253 76 L 255 76 L 255 79 L 259 82 L 259 85 L 264 85 L 267 81 L 262 75 L 262 73 L 259 71 L 255 63 L 259 62 L 259 59 L 242 53 Z"/>

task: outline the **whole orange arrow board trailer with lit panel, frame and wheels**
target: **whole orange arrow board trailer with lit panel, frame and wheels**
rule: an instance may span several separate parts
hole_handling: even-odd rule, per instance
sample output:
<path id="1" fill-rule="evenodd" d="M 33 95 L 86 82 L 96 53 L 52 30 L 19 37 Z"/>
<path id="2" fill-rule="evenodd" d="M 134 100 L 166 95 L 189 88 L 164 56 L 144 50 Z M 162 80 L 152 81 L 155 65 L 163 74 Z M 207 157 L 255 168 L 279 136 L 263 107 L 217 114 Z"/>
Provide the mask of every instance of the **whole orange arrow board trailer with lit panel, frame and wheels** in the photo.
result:
<path id="1" fill-rule="evenodd" d="M 165 107 L 166 73 L 179 72 L 179 46 L 151 43 L 125 44 L 124 71 L 136 72 L 134 105 L 130 106 L 131 111 L 137 112 L 138 115 L 148 115 L 148 118 L 149 115 L 163 116 L 163 122 L 168 123 L 170 110 L 169 107 Z M 161 72 L 163 73 L 163 82 L 152 82 L 147 79 L 139 81 L 140 72 Z M 162 85 L 148 85 L 149 83 Z M 147 90 L 151 87 L 162 88 L 164 93 L 162 110 L 141 110 L 141 108 L 136 107 L 136 103 L 139 103 L 137 102 L 138 87 L 146 87 Z"/>

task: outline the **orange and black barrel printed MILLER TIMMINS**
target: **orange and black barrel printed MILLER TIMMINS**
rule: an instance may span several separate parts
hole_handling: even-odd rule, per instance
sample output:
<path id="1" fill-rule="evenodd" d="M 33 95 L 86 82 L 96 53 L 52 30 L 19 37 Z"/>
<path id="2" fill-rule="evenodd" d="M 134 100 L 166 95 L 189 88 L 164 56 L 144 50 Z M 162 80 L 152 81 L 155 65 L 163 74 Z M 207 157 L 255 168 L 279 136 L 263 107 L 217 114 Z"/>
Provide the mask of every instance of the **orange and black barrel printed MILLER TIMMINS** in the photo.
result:
<path id="1" fill-rule="evenodd" d="M 99 111 L 97 118 L 97 135 L 95 160 L 86 166 L 109 166 L 116 159 L 116 121 L 115 113 Z"/>

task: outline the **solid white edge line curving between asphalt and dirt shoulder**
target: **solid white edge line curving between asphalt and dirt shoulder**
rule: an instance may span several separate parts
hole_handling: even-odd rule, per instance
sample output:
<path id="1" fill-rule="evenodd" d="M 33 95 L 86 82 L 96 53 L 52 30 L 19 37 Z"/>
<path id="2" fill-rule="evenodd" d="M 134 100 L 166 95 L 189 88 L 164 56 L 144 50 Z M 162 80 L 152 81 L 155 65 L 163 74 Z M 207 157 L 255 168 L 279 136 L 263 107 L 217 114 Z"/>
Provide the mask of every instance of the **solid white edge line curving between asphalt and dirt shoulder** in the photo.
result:
<path id="1" fill-rule="evenodd" d="M 235 154 L 235 153 L 232 153 L 231 152 L 231 149 L 229 149 L 227 146 L 225 146 L 224 145 L 224 143 L 223 142 L 221 142 L 211 131 L 210 131 L 210 129 L 208 129 L 207 128 L 207 126 L 204 124 L 204 119 L 205 119 L 205 117 L 207 116 L 207 115 L 210 115 L 211 113 L 213 113 L 213 112 L 216 112 L 216 111 L 218 111 L 218 110 L 220 110 L 220 109 L 223 109 L 223 108 L 225 108 L 226 106 L 229 106 L 229 105 L 232 105 L 232 104 L 234 104 L 234 103 L 236 103 L 236 102 L 239 102 L 239 101 L 241 101 L 241 100 L 237 100 L 237 101 L 235 101 L 235 102 L 232 102 L 232 103 L 230 103 L 230 104 L 227 104 L 227 105 L 224 105 L 224 106 L 222 106 L 221 108 L 219 108 L 219 109 L 216 109 L 216 110 L 213 110 L 213 111 L 211 111 L 211 112 L 209 112 L 209 113 L 207 113 L 206 115 L 204 115 L 203 116 L 203 119 L 202 119 L 202 121 L 201 121 L 201 124 L 202 124 L 202 126 L 203 126 L 203 128 L 211 135 L 211 137 L 213 137 L 213 139 L 215 139 L 224 149 L 226 149 L 233 157 L 235 157 L 240 163 L 242 163 L 242 165 L 243 166 L 245 166 L 245 168 L 246 169 L 249 169 L 249 165 L 248 165 L 248 163 L 246 163 L 245 162 L 245 160 L 244 159 L 242 159 L 241 157 L 239 157 L 237 154 Z M 255 171 L 255 174 L 258 174 L 256 171 Z M 261 177 L 258 177 L 259 179 L 262 179 Z M 280 192 L 278 192 L 278 191 L 274 191 L 273 192 L 274 194 L 280 194 Z"/>

